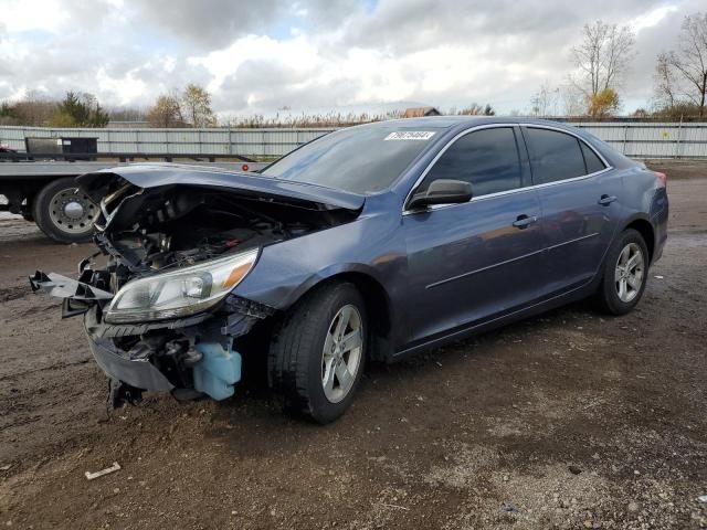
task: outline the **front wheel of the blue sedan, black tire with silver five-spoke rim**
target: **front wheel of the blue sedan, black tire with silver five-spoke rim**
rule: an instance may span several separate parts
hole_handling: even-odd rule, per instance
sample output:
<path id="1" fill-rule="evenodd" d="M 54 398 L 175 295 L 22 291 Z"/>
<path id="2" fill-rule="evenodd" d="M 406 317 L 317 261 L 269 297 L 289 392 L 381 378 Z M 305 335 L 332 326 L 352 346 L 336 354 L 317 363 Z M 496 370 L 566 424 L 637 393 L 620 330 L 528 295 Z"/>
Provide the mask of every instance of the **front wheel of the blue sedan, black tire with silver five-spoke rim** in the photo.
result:
<path id="1" fill-rule="evenodd" d="M 338 326 L 345 321 L 345 326 Z M 344 329 L 339 332 L 338 327 Z M 320 424 L 341 416 L 363 373 L 367 330 L 363 299 L 352 284 L 328 284 L 306 295 L 285 316 L 271 340 L 270 380 L 284 395 L 285 407 Z M 347 343 L 333 338 L 337 335 L 349 337 L 352 348 L 345 351 Z M 360 346 L 354 348 L 357 343 Z"/>

